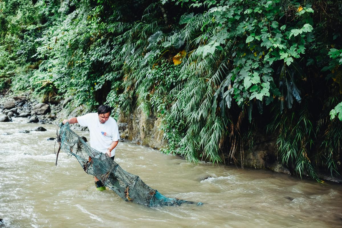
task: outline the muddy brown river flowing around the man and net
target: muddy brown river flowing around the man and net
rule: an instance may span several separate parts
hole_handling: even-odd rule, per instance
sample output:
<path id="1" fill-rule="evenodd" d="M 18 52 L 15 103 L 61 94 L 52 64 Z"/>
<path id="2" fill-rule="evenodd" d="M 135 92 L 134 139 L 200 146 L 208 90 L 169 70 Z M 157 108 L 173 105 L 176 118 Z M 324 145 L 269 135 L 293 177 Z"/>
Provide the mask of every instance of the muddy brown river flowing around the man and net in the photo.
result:
<path id="1" fill-rule="evenodd" d="M 75 157 L 61 152 L 55 166 L 55 141 L 47 138 L 56 137 L 56 125 L 14 120 L 0 122 L 1 228 L 342 227 L 340 184 L 187 163 L 128 141 L 119 142 L 115 156 L 124 170 L 167 197 L 204 204 L 149 208 L 125 202 L 112 190 L 96 191 Z M 18 133 L 38 126 L 47 131 Z M 88 131 L 77 133 L 89 140 Z"/>

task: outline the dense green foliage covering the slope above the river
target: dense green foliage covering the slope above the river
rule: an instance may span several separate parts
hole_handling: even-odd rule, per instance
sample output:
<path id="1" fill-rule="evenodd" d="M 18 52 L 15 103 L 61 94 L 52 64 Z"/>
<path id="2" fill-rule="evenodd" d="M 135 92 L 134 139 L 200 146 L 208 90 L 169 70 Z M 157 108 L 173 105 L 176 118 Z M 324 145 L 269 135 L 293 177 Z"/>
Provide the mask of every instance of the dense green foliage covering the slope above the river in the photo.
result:
<path id="1" fill-rule="evenodd" d="M 319 181 L 340 170 L 342 1 L 0 0 L 0 88 L 140 106 L 164 152 L 241 162 L 266 132 Z M 339 9 L 339 10 L 338 10 Z M 338 116 L 338 118 L 334 118 Z"/>

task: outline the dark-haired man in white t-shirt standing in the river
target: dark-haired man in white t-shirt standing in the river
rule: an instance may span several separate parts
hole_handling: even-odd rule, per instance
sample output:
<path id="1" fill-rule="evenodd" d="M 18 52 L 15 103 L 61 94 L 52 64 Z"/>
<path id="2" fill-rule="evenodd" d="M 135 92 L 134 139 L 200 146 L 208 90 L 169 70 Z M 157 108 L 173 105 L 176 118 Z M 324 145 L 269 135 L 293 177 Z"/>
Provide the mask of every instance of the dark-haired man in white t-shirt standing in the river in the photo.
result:
<path id="1" fill-rule="evenodd" d="M 80 117 L 72 117 L 63 120 L 63 124 L 69 122 L 79 123 L 81 126 L 88 127 L 90 132 L 90 146 L 97 151 L 107 153 L 114 160 L 115 147 L 118 145 L 120 136 L 119 128 L 115 119 L 110 117 L 111 108 L 108 105 L 100 105 L 97 113 L 88 113 Z M 101 180 L 95 179 L 96 190 L 103 191 L 106 187 L 103 186 Z"/>

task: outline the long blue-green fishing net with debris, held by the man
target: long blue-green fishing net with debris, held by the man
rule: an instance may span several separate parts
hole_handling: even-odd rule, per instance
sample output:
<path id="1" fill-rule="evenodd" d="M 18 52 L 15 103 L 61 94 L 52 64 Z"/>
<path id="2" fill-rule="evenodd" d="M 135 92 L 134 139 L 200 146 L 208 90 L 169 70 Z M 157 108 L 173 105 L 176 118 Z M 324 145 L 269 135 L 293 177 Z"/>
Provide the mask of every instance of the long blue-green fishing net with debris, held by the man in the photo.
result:
<path id="1" fill-rule="evenodd" d="M 146 185 L 139 176 L 124 171 L 107 154 L 91 148 L 80 136 L 70 130 L 69 123 L 64 125 L 61 123 L 59 127 L 57 142 L 60 144 L 60 149 L 70 156 L 75 156 L 86 173 L 96 176 L 104 186 L 112 189 L 123 200 L 149 207 L 177 206 L 189 202 L 177 198 L 167 198 L 156 189 Z M 59 150 L 56 156 L 56 165 L 58 153 Z"/>

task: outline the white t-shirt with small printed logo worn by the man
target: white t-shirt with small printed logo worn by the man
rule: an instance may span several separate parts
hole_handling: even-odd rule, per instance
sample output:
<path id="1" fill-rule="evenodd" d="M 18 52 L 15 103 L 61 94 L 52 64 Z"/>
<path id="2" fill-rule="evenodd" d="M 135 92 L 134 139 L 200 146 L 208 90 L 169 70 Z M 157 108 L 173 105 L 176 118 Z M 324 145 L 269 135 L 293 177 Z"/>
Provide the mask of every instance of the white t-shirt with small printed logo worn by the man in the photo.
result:
<path id="1" fill-rule="evenodd" d="M 97 112 L 88 113 L 84 116 L 76 117 L 77 122 L 88 127 L 90 132 L 90 146 L 95 150 L 106 153 L 110 144 L 120 139 L 119 128 L 115 119 L 109 117 L 105 123 L 98 120 Z M 115 155 L 115 148 L 111 151 L 111 156 Z"/>

